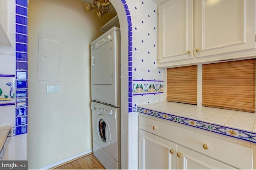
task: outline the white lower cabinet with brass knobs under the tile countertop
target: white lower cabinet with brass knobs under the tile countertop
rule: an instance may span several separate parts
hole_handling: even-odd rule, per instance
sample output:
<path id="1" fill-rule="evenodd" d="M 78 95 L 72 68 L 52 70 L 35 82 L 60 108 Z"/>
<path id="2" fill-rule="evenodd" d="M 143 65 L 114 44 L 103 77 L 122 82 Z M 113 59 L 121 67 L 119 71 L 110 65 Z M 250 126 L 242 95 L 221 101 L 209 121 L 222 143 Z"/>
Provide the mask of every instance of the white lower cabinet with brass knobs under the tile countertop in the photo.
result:
<path id="1" fill-rule="evenodd" d="M 159 119 L 139 116 L 140 169 L 253 169 L 251 143 Z"/>

